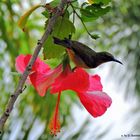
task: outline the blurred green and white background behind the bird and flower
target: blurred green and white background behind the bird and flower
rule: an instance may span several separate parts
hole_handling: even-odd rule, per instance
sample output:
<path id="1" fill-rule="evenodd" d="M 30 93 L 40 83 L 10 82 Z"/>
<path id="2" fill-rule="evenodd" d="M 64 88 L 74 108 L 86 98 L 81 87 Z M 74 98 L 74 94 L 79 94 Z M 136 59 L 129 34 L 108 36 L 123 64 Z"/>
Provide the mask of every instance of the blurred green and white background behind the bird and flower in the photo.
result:
<path id="1" fill-rule="evenodd" d="M 19 17 L 34 3 L 30 0 L 0 1 L 0 115 L 19 80 L 19 75 L 14 73 L 15 58 L 32 53 L 44 32 L 45 18 L 40 10 L 31 15 L 26 33 L 17 26 Z M 52 137 L 47 128 L 56 96 L 48 92 L 42 98 L 28 86 L 17 100 L 0 139 L 119 140 L 128 134 L 140 136 L 140 1 L 113 0 L 111 5 L 111 11 L 103 18 L 87 24 L 90 32 L 100 34 L 100 39 L 93 41 L 82 25 L 76 26 L 74 36 L 97 51 L 111 52 L 124 64 L 105 64 L 91 71 L 101 75 L 104 91 L 112 97 L 113 104 L 108 111 L 100 118 L 92 118 L 75 93 L 63 93 L 62 129 L 57 137 Z M 46 63 L 53 67 L 58 62 L 52 59 Z"/>

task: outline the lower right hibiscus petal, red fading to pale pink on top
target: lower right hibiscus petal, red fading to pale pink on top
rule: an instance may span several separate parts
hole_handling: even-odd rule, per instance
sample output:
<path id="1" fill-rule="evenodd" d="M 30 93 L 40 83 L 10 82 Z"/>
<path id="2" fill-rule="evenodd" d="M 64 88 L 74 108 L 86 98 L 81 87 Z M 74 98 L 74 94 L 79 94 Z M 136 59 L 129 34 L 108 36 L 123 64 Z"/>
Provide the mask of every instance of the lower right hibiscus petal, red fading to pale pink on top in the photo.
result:
<path id="1" fill-rule="evenodd" d="M 111 98 L 105 92 L 101 91 L 78 93 L 78 96 L 83 106 L 93 117 L 103 115 L 112 103 Z"/>

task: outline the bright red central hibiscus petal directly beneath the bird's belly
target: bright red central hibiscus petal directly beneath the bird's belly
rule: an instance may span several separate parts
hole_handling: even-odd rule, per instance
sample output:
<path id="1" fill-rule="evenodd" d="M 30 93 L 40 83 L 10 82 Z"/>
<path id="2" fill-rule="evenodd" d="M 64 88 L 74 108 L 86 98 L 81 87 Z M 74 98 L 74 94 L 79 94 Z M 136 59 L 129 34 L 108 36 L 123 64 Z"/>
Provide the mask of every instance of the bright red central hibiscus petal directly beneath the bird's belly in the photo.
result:
<path id="1" fill-rule="evenodd" d="M 74 90 L 76 92 L 86 91 L 89 87 L 89 75 L 82 68 L 77 68 L 74 72 L 64 71 L 52 84 L 51 93 L 62 90 Z"/>

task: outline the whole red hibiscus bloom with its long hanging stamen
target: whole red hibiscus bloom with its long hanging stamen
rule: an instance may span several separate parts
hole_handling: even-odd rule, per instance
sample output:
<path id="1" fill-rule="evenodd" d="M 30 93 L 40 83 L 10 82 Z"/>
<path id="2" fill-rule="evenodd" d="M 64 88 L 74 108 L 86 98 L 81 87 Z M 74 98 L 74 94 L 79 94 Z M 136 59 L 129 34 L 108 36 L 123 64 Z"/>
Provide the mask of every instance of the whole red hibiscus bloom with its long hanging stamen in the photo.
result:
<path id="1" fill-rule="evenodd" d="M 19 72 L 24 72 L 30 57 L 31 55 L 20 55 L 17 57 L 16 69 Z M 58 110 L 62 91 L 75 91 L 83 106 L 93 117 L 103 115 L 112 103 L 111 98 L 102 92 L 100 77 L 98 75 L 89 75 L 82 68 L 76 68 L 72 71 L 70 66 L 67 65 L 63 70 L 60 64 L 51 70 L 47 64 L 37 58 L 29 79 L 40 96 L 44 96 L 48 88 L 51 89 L 50 92 L 52 94 L 59 93 L 56 108 L 49 123 L 51 133 L 54 135 L 60 131 Z"/>

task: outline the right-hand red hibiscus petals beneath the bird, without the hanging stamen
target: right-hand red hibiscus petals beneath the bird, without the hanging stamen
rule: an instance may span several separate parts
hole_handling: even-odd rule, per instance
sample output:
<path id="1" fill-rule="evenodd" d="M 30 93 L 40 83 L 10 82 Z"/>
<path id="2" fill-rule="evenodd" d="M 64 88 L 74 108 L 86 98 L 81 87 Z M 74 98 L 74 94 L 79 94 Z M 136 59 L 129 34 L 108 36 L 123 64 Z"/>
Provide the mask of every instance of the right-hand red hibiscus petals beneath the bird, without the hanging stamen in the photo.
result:
<path id="1" fill-rule="evenodd" d="M 82 68 L 76 68 L 73 72 L 67 66 L 51 86 L 51 93 L 63 90 L 74 90 L 81 103 L 93 116 L 98 117 L 104 114 L 111 105 L 111 98 L 102 92 L 102 84 L 98 75 L 89 75 Z"/>

